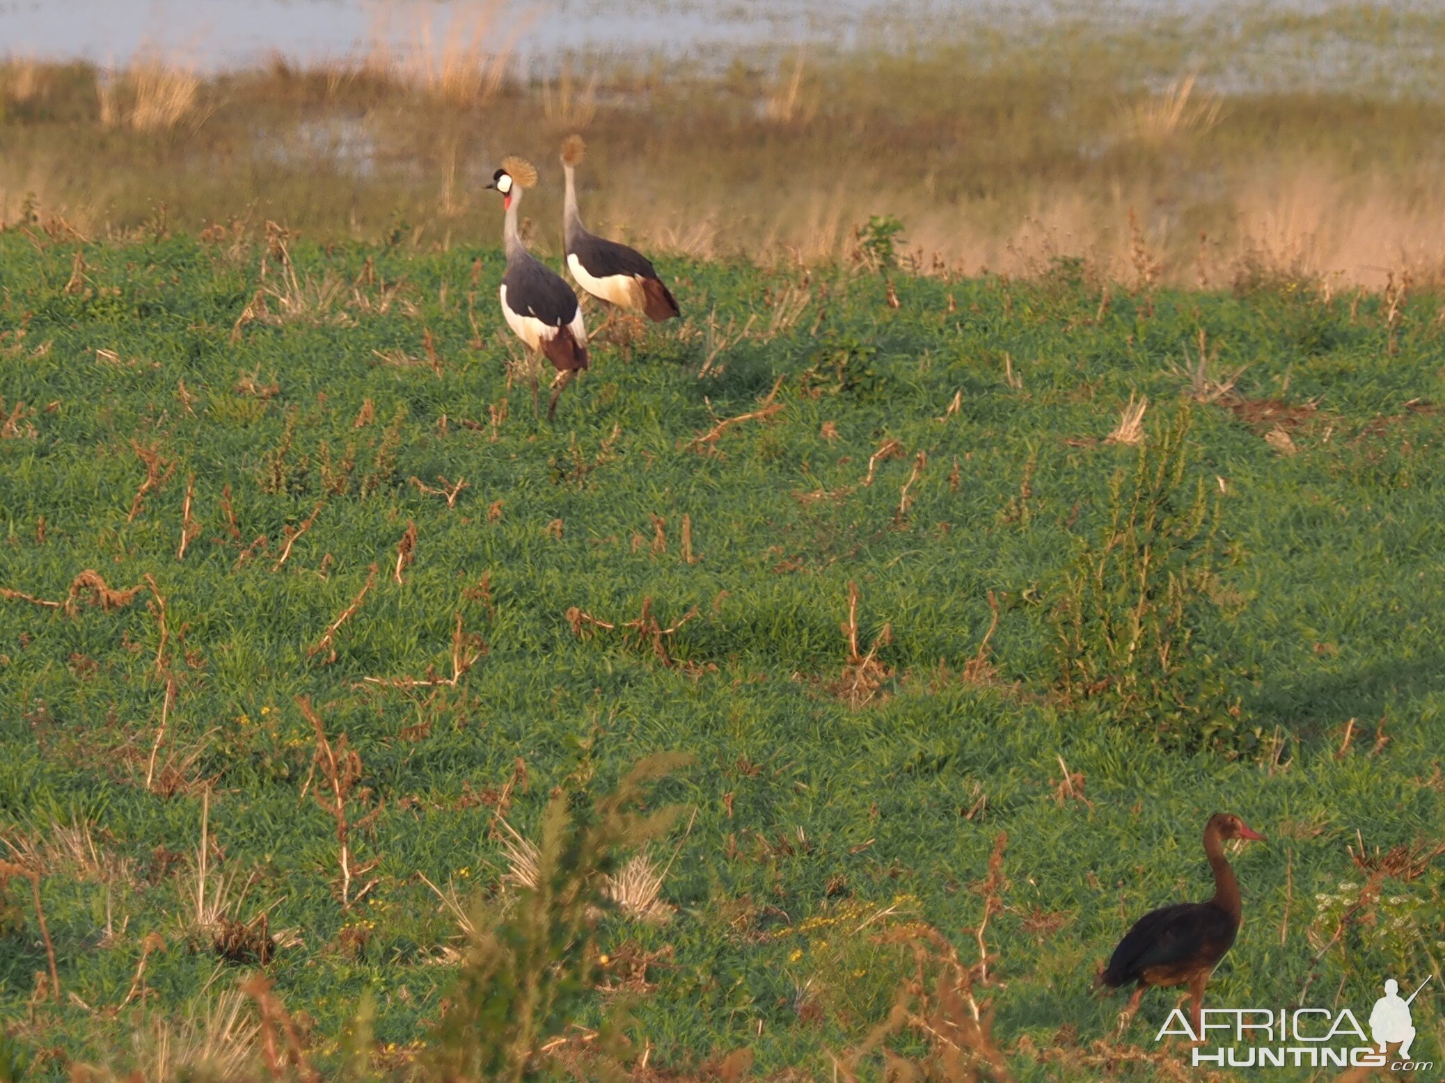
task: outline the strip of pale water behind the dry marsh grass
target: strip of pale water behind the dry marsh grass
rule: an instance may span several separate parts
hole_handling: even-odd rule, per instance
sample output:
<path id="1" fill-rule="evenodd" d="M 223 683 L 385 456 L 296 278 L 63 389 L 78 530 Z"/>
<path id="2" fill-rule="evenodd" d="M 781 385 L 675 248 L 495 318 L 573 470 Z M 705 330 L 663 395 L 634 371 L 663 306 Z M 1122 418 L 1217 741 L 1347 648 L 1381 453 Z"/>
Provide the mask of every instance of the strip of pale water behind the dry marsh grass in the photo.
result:
<path id="1" fill-rule="evenodd" d="M 1091 10 L 1137 20 L 1225 4 L 1114 0 Z M 1269 6 L 1319 7 L 1309 0 Z M 497 45 L 510 39 L 525 62 L 545 68 L 569 51 L 679 58 L 779 45 L 847 48 L 864 36 L 906 43 L 932 36 L 962 12 L 1033 19 L 1079 7 L 1068 0 L 533 0 L 493 10 L 500 12 Z M 416 48 L 422 25 L 439 48 L 454 20 L 471 25 L 484 10 L 478 0 L 0 0 L 0 55 L 120 64 L 156 49 L 204 69 L 246 66 L 273 52 L 305 62 L 363 52 L 377 38 Z"/>

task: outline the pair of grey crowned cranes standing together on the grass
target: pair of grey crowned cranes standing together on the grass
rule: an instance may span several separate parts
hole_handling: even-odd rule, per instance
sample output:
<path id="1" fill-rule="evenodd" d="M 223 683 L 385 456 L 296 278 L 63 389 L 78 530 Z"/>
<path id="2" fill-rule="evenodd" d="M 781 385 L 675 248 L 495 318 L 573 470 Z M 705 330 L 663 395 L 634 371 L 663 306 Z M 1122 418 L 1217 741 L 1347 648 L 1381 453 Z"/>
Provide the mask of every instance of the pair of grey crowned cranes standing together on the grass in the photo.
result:
<path id="1" fill-rule="evenodd" d="M 566 266 L 577 284 L 598 300 L 623 309 L 643 312 L 650 319 L 663 321 L 679 315 L 678 302 L 657 277 L 646 256 L 601 237 L 590 234 L 577 211 L 577 180 L 574 170 L 582 160 L 585 146 L 579 136 L 562 143 L 562 169 L 566 173 L 566 202 L 562 211 L 562 237 Z M 507 271 L 501 276 L 501 315 L 527 348 L 546 357 L 556 370 L 552 381 L 552 401 L 548 420 L 556 413 L 556 400 L 587 368 L 587 326 L 577 295 L 562 277 L 532 256 L 522 244 L 517 230 L 517 205 L 522 192 L 538 180 L 538 170 L 520 157 L 501 159 L 501 169 L 491 176 L 488 188 L 501 193 L 506 211 L 503 238 L 507 247 Z M 536 375 L 532 377 L 532 397 L 536 400 Z"/>

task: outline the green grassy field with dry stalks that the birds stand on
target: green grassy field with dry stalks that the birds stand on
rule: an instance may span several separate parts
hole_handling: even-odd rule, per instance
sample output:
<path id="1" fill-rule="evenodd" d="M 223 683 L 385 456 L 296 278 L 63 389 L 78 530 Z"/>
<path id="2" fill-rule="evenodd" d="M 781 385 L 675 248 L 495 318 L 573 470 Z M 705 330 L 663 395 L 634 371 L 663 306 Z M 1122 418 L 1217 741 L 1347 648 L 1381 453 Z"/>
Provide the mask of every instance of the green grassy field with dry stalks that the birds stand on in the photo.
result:
<path id="1" fill-rule="evenodd" d="M 640 1079 L 744 1047 L 759 1077 L 832 1077 L 913 973 L 890 931 L 972 966 L 985 905 L 974 992 L 1010 1071 L 1153 1077 L 1175 996 L 1116 1038 L 1123 1001 L 1090 985 L 1129 921 L 1209 894 L 1214 810 L 1270 840 L 1233 856 L 1244 928 L 1208 1002 L 1308 985 L 1363 1019 L 1386 976 L 1433 975 L 1416 1057 L 1445 1060 L 1436 297 L 672 261 L 686 319 L 597 339 L 548 425 L 509 380 L 497 251 L 292 253 L 262 277 L 263 238 L 0 234 L 0 1018 L 29 1077 L 124 1070 L 131 1032 L 257 969 L 318 1064 L 370 998 L 403 1071 L 455 979 L 418 874 L 496 897 L 499 812 L 535 838 L 555 787 L 657 751 L 694 755 L 656 788 L 682 806 L 653 849 L 675 913 L 597 933 Z M 1201 335 L 1214 400 L 1175 495 L 1220 500 L 1189 608 L 1189 671 L 1238 703 L 1214 744 L 1064 696 L 1053 619 L 1139 456 L 1105 438 L 1140 394 L 1157 443 Z M 72 589 L 88 569 L 127 593 Z M 454 676 L 458 628 L 474 664 L 407 684 Z M 298 697 L 376 813 L 350 913 Z M 243 949 L 263 913 L 280 933 L 264 967 L 191 927 L 207 791 Z"/>

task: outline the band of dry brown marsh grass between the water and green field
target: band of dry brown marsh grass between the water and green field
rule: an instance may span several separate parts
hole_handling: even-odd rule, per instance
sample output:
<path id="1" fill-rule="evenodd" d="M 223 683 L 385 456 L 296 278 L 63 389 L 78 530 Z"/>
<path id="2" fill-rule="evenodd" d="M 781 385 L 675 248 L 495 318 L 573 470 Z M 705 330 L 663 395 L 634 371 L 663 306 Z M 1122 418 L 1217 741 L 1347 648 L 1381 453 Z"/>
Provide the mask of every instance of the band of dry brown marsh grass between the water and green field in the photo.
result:
<path id="1" fill-rule="evenodd" d="M 397 206 L 425 205 L 410 243 L 494 243 L 470 178 L 503 146 L 549 156 L 564 126 L 587 126 L 590 219 L 652 253 L 816 264 L 845 258 L 854 227 L 890 214 L 907 227 L 903 266 L 925 273 L 1029 276 L 1069 256 L 1100 279 L 1136 280 L 1146 238 L 1157 284 L 1383 289 L 1392 271 L 1422 284 L 1445 274 L 1445 140 L 1418 101 L 1335 87 L 1224 97 L 1205 77 L 1170 74 L 1179 58 L 1147 40 L 1007 35 L 984 64 L 959 62 L 967 43 L 936 42 L 906 61 L 799 52 L 763 75 L 663 79 L 590 56 L 525 82 L 509 75 L 517 25 L 497 0 L 452 14 L 393 4 L 351 62 L 198 82 L 150 53 L 100 78 L 98 101 L 82 105 L 62 100 L 77 79 L 61 68 L 12 62 L 0 71 L 10 101 L 98 116 L 116 139 L 97 170 L 92 133 L 16 107 L 33 129 L 0 160 L 0 217 L 136 230 L 165 204 L 199 230 L 269 202 L 295 208 L 289 225 L 308 237 L 332 238 L 387 234 Z M 1066 72 L 1085 59 L 1079 82 Z M 316 130 L 340 143 L 315 146 Z M 195 153 L 158 169 L 158 131 Z M 240 153 L 218 157 L 218 146 Z M 225 172 L 276 146 L 286 160 L 262 175 Z M 340 173 L 354 201 L 331 198 Z M 543 251 L 553 218 L 536 225 Z M 266 284 L 303 318 L 342 308 L 341 282 Z M 260 303 L 288 309 L 277 296 Z"/>

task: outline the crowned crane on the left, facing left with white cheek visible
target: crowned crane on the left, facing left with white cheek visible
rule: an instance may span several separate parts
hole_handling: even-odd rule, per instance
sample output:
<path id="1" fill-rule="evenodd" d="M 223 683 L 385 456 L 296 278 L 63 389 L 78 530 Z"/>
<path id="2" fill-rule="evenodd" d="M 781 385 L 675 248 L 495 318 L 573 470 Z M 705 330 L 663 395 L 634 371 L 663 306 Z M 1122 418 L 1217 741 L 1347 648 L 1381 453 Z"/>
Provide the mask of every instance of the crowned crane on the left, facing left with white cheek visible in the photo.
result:
<path id="1" fill-rule="evenodd" d="M 538 182 L 538 170 L 520 157 L 501 159 L 501 169 L 491 176 L 487 188 L 501 192 L 506 209 L 503 238 L 507 245 L 507 271 L 501 276 L 501 315 L 517 338 L 529 349 L 546 357 L 556 368 L 552 380 L 552 401 L 546 416 L 552 420 L 562 388 L 587 368 L 587 326 L 577 295 L 562 276 L 535 258 L 522 244 L 517 232 L 517 205 L 522 192 Z M 532 377 L 532 401 L 536 404 L 536 374 Z"/>

